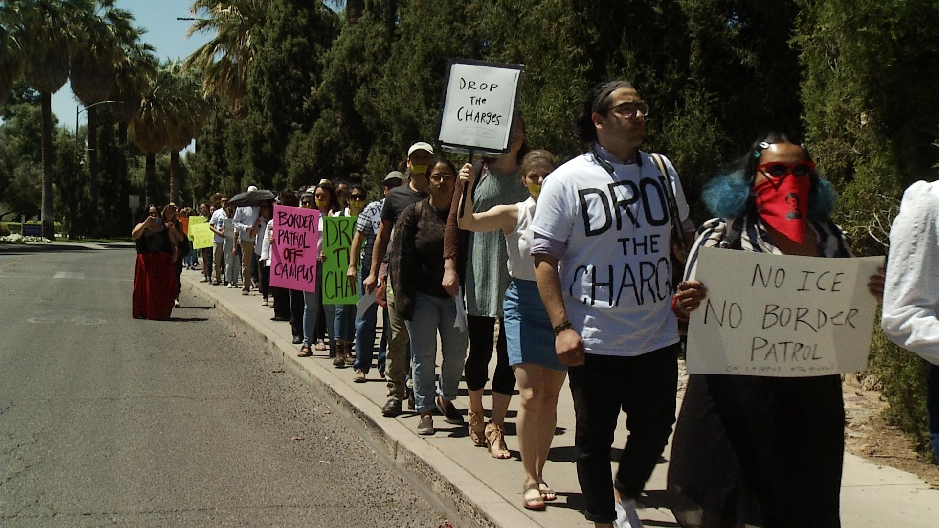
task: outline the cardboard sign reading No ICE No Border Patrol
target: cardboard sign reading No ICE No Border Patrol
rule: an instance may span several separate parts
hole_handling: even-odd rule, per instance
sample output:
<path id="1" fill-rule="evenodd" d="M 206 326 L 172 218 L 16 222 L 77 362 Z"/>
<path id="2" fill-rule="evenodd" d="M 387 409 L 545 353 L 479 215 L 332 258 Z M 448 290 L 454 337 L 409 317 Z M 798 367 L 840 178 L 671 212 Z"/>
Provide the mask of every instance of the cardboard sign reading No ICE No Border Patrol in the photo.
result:
<path id="1" fill-rule="evenodd" d="M 883 256 L 822 258 L 700 248 L 707 299 L 692 312 L 691 374 L 805 377 L 858 372 L 868 361 Z"/>

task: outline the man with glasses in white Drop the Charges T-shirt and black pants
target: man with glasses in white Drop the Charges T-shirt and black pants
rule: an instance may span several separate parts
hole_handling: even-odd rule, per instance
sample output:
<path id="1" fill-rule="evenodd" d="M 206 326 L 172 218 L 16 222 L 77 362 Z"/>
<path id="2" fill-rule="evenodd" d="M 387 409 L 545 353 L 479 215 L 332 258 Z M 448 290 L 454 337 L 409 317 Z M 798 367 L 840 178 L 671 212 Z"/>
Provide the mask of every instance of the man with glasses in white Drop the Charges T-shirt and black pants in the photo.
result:
<path id="1" fill-rule="evenodd" d="M 675 418 L 673 218 L 682 232 L 694 225 L 674 167 L 663 158 L 663 175 L 639 150 L 647 113 L 632 85 L 594 86 L 577 116 L 577 134 L 591 149 L 545 180 L 531 225 L 538 289 L 556 352 L 570 367 L 585 516 L 596 526 L 641 526 L 635 499 Z M 629 440 L 611 486 L 609 450 L 621 410 Z"/>

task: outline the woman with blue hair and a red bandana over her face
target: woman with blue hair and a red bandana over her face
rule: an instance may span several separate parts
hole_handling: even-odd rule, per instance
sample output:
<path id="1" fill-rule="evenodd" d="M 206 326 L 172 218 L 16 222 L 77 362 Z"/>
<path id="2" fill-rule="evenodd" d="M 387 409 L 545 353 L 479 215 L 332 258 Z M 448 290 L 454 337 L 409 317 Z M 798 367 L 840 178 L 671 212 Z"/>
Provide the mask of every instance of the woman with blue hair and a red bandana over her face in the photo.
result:
<path id="1" fill-rule="evenodd" d="M 759 138 L 703 197 L 717 218 L 701 226 L 688 256 L 672 302 L 679 318 L 707 297 L 694 280 L 701 247 L 851 256 L 831 221 L 837 198 L 831 183 L 785 134 Z M 880 299 L 883 275 L 871 276 L 868 287 Z M 843 456 L 839 375 L 692 375 L 671 448 L 672 510 L 685 528 L 836 528 Z"/>

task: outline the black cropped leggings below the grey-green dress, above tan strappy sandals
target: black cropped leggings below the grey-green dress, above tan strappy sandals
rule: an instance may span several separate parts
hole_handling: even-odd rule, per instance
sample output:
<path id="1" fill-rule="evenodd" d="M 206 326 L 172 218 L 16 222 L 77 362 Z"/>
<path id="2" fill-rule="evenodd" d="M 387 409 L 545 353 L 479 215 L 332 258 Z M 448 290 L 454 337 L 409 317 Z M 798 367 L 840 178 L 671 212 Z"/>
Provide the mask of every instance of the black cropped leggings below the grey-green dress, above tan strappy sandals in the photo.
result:
<path id="1" fill-rule="evenodd" d="M 470 391 L 485 387 L 489 378 L 489 360 L 492 359 L 492 333 L 496 318 L 467 316 L 469 356 L 463 373 Z M 505 347 L 505 325 L 499 319 L 499 341 L 496 343 L 496 372 L 492 376 L 492 392 L 511 395 L 516 390 L 516 375 L 509 365 L 509 352 Z"/>

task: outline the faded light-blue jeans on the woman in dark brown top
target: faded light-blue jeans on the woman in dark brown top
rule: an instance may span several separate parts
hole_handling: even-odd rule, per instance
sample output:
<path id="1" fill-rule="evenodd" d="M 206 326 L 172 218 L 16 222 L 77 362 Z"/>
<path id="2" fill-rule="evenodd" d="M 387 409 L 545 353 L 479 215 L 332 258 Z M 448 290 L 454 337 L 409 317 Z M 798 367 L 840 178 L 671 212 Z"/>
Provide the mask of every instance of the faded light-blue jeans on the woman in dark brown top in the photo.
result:
<path id="1" fill-rule="evenodd" d="M 434 410 L 434 395 L 445 401 L 456 399 L 463 360 L 467 356 L 469 336 L 454 328 L 456 305 L 450 297 L 431 297 L 418 293 L 414 298 L 414 315 L 406 320 L 410 335 L 414 409 L 417 412 Z M 440 364 L 439 389 L 435 391 L 434 371 L 437 361 L 437 334 L 443 361 Z"/>

